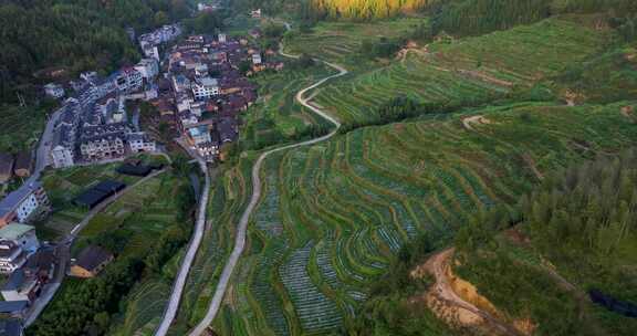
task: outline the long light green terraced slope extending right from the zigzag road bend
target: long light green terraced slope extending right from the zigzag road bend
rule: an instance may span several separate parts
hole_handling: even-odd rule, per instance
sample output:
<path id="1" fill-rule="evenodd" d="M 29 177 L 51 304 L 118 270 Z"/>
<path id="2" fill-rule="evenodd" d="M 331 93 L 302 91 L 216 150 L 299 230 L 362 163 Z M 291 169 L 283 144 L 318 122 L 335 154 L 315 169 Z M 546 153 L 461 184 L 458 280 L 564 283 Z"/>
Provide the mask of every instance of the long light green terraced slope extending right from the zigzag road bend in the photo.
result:
<path id="1" fill-rule="evenodd" d="M 343 123 L 365 122 L 396 96 L 418 102 L 484 101 L 528 86 L 584 60 L 606 32 L 550 19 L 478 38 L 436 42 L 399 53 L 399 61 L 328 83 L 315 102 Z"/>

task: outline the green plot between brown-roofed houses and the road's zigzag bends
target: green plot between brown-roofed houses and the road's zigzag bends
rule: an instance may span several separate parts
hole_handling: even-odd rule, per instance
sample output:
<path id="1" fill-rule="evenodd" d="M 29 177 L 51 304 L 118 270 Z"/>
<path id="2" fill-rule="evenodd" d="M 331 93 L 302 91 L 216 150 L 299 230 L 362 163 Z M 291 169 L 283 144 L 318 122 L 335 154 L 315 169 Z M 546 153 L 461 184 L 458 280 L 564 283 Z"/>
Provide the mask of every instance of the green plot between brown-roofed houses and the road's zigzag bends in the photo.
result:
<path id="1" fill-rule="evenodd" d="M 324 65 L 309 69 L 286 69 L 281 72 L 263 72 L 252 81 L 259 87 L 259 99 L 246 113 L 247 126 L 241 140 L 248 148 L 260 144 L 272 144 L 282 137 L 300 134 L 313 125 L 325 122 L 301 106 L 295 95 L 318 78 L 330 75 Z"/>

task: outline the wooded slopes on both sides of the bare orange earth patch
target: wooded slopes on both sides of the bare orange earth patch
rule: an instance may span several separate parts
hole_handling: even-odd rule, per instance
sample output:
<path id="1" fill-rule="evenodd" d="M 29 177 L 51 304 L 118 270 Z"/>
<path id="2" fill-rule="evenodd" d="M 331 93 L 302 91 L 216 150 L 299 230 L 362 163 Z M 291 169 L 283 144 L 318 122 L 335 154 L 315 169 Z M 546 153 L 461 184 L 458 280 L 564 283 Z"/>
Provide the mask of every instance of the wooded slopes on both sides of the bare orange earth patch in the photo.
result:
<path id="1" fill-rule="evenodd" d="M 457 295 L 522 335 L 634 335 L 636 182 L 635 149 L 552 174 L 516 206 L 476 213 L 457 234 L 452 272 L 445 276 L 476 286 L 481 298 Z M 418 300 L 435 295 L 434 280 L 413 273 L 427 269 L 435 249 L 429 234 L 404 246 L 349 332 L 477 333 L 462 323 L 445 329 L 431 304 Z"/>

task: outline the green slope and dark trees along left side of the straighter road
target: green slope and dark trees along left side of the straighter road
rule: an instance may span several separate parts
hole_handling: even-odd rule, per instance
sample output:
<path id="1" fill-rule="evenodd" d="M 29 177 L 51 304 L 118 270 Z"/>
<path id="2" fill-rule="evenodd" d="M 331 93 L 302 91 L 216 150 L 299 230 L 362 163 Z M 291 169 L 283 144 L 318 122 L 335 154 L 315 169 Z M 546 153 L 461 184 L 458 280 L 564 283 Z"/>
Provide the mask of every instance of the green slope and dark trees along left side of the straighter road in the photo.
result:
<path id="1" fill-rule="evenodd" d="M 76 168 L 75 174 L 55 181 L 70 179 L 85 186 L 86 179 L 108 174 L 108 167 Z M 88 222 L 72 254 L 97 244 L 115 260 L 98 276 L 73 281 L 71 290 L 60 291 L 28 329 L 30 335 L 132 335 L 153 323 L 155 316 L 140 302 L 154 301 L 153 309 L 163 312 L 174 277 L 169 261 L 188 242 L 191 231 L 195 196 L 180 174 L 175 169 L 135 186 Z"/>

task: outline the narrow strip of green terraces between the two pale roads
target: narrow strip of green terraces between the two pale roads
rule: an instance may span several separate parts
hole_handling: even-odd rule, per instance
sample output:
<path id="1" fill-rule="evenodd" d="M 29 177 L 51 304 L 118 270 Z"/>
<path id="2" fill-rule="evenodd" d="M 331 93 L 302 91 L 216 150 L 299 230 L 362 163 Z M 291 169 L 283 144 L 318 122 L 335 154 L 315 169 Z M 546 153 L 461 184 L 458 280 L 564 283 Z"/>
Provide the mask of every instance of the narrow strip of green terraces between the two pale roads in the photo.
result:
<path id="1" fill-rule="evenodd" d="M 228 255 L 234 244 L 234 230 L 252 192 L 250 171 L 255 157 L 250 154 L 237 165 L 221 166 L 212 177 L 208 224 L 197 258 L 188 274 L 179 312 L 168 335 L 181 336 L 206 315 Z M 244 296 L 246 297 L 246 296 Z M 161 317 L 159 312 L 157 318 Z"/>

